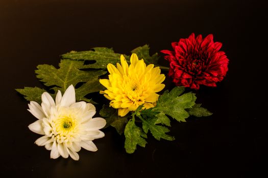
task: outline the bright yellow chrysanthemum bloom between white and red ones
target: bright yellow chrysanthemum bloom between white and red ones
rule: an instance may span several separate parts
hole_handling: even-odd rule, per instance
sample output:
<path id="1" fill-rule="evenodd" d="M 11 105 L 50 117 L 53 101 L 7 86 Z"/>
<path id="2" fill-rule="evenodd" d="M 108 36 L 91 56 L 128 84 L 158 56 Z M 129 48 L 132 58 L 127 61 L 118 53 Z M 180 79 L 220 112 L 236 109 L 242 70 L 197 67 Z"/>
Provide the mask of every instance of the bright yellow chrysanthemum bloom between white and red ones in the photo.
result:
<path id="1" fill-rule="evenodd" d="M 164 74 L 160 74 L 159 67 L 153 64 L 146 66 L 143 60 L 133 53 L 130 57 L 130 66 L 125 57 L 120 57 L 121 65 L 108 64 L 109 79 L 100 82 L 107 90 L 101 94 L 111 100 L 110 106 L 118 109 L 118 115 L 125 116 L 129 111 L 134 111 L 143 104 L 143 109 L 156 105 L 159 95 L 156 94 L 164 88 L 162 82 Z"/>

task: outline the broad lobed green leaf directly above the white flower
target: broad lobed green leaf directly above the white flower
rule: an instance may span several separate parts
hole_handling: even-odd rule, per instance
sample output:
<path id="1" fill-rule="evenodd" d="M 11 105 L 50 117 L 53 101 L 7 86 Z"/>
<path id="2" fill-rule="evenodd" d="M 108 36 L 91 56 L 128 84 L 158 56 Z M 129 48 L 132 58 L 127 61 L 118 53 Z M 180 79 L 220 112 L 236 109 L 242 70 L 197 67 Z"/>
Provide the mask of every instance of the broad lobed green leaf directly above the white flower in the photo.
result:
<path id="1" fill-rule="evenodd" d="M 106 71 L 79 70 L 83 66 L 82 61 L 61 60 L 59 69 L 51 65 L 39 65 L 35 72 L 37 78 L 46 86 L 54 86 L 52 89 L 57 92 L 60 90 L 65 92 L 69 85 L 76 86 L 80 82 L 86 82 L 79 88 L 76 88 L 77 101 L 85 100 L 85 96 L 89 93 L 99 92 L 103 86 L 99 82 L 99 76 L 104 75 Z M 56 85 L 56 86 L 55 86 Z"/>

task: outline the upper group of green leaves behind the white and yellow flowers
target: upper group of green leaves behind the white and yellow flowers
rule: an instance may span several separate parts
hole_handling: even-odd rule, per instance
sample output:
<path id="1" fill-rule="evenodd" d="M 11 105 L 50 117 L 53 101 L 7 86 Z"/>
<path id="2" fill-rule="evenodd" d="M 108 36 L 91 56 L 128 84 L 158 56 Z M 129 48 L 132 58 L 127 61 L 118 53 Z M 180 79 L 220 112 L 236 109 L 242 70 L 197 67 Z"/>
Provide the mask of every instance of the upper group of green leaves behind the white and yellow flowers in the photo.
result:
<path id="1" fill-rule="evenodd" d="M 155 53 L 151 56 L 149 54 L 149 50 L 149 46 L 144 45 L 133 49 L 131 52 L 136 53 L 139 58 L 143 58 L 144 62 L 148 65 L 155 64 L 157 66 L 159 59 L 158 54 Z M 87 99 L 85 96 L 87 94 L 99 92 L 104 89 L 99 82 L 99 77 L 104 75 L 106 71 L 100 69 L 106 69 L 109 63 L 113 65 L 120 63 L 120 55 L 121 54 L 119 53 L 115 53 L 112 48 L 106 47 L 95 47 L 89 51 L 81 52 L 71 51 L 62 55 L 63 60 L 61 60 L 59 64 L 59 69 L 52 65 L 44 64 L 37 66 L 38 70 L 35 72 L 37 74 L 37 78 L 42 81 L 44 85 L 48 86 L 49 89 L 52 89 L 55 92 L 60 90 L 62 93 L 64 93 L 70 84 L 76 86 L 78 83 L 82 83 L 80 87 L 76 87 L 77 101 L 83 100 L 86 102 L 95 103 L 91 99 Z M 130 57 L 125 54 L 124 56 L 126 57 L 126 60 L 129 61 Z M 84 61 L 93 63 L 84 65 Z M 168 69 L 166 67 L 162 68 Z M 83 71 L 81 69 L 91 70 Z M 45 92 L 45 90 L 42 90 L 41 88 L 38 89 L 36 87 L 25 87 L 24 89 L 17 89 L 17 92 L 25 96 L 28 101 L 41 102 L 40 94 Z M 167 124 L 167 122 L 165 123 Z"/>

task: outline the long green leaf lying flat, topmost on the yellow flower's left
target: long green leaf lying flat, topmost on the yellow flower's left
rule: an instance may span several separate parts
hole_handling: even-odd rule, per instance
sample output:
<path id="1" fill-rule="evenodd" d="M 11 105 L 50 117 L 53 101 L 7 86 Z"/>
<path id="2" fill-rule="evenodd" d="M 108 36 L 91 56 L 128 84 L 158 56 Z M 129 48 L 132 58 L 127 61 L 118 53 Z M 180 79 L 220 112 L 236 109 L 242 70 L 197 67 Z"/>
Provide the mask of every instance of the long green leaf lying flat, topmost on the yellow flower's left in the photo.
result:
<path id="1" fill-rule="evenodd" d="M 120 63 L 119 53 L 115 53 L 112 48 L 105 47 L 95 47 L 89 51 L 71 51 L 66 54 L 62 54 L 62 58 L 69 60 L 84 60 L 95 62 L 93 64 L 88 64 L 82 66 L 80 69 L 107 69 L 109 63 L 116 65 Z M 129 59 L 129 56 L 126 56 L 126 59 Z"/>

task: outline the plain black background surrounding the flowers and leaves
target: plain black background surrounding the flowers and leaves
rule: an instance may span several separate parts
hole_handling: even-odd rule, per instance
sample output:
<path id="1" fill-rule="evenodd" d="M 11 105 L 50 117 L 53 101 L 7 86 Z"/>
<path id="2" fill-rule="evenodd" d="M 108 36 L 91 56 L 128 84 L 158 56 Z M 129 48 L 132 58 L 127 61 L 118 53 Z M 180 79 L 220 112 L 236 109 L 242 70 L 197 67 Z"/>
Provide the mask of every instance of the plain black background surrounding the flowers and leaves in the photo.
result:
<path id="1" fill-rule="evenodd" d="M 231 0 L 1 0 L 0 175 L 266 177 L 266 7 L 265 1 Z M 50 159 L 49 151 L 34 144 L 40 136 L 28 125 L 36 118 L 14 88 L 42 86 L 37 65 L 57 66 L 60 54 L 100 46 L 128 53 L 149 44 L 155 53 L 192 32 L 213 34 L 230 60 L 216 88 L 193 91 L 212 116 L 174 121 L 175 141 L 149 136 L 145 149 L 132 155 L 113 128 L 94 141 L 98 152 L 81 150 L 79 161 Z"/>

